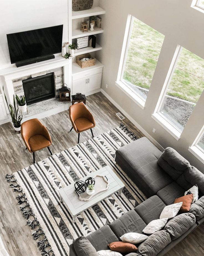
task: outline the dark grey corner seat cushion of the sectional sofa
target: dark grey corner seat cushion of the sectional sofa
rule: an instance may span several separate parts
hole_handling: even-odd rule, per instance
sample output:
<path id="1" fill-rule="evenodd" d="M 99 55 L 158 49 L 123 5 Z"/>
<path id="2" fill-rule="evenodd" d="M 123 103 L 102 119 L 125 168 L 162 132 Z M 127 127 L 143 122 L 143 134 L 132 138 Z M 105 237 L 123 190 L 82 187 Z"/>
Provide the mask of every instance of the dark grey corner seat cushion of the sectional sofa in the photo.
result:
<path id="1" fill-rule="evenodd" d="M 157 196 L 159 196 L 166 205 L 171 205 L 176 198 L 183 196 L 184 193 L 185 189 L 180 187 L 178 183 L 174 181 L 165 188 L 159 190 Z"/>

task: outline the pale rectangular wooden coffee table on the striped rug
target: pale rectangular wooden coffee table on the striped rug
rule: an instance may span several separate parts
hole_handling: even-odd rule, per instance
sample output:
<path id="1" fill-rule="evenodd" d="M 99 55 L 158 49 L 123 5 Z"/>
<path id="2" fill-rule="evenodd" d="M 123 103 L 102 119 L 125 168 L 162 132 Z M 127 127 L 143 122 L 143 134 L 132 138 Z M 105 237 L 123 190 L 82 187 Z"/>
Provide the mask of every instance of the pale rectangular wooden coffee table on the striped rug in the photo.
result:
<path id="1" fill-rule="evenodd" d="M 72 222 L 76 221 L 76 217 L 78 214 L 99 203 L 106 197 L 116 193 L 117 191 L 119 195 L 121 194 L 125 185 L 109 166 L 105 166 L 98 171 L 95 171 L 94 173 L 90 173 L 88 174 L 88 176 L 86 176 L 85 178 L 81 178 L 80 180 L 85 181 L 86 178 L 94 177 L 97 174 L 106 176 L 108 178 L 109 188 L 106 191 L 102 191 L 94 195 L 89 201 L 81 201 L 79 199 L 78 195 L 74 191 L 74 183 L 59 190 L 60 201 L 64 201 L 67 205 L 67 208 L 72 215 Z"/>

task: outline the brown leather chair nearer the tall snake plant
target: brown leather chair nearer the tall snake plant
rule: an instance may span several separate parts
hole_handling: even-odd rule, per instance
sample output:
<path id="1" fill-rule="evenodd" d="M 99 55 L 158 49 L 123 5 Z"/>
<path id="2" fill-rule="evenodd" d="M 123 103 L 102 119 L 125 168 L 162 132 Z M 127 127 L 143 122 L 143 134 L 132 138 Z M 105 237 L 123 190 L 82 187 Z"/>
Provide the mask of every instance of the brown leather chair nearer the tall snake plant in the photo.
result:
<path id="1" fill-rule="evenodd" d="M 49 148 L 52 144 L 52 139 L 46 127 L 39 119 L 34 118 L 22 123 L 21 136 L 25 142 L 26 149 L 28 149 L 30 153 L 33 153 L 33 163 L 35 163 L 35 151 L 47 147 L 52 155 Z"/>

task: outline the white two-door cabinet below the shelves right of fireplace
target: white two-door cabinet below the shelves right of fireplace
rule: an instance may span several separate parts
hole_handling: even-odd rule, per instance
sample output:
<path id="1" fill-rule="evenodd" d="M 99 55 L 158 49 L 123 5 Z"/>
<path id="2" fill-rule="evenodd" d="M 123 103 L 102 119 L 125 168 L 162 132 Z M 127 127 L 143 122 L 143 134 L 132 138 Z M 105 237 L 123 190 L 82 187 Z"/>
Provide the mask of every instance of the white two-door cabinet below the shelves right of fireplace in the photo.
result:
<path id="1" fill-rule="evenodd" d="M 95 70 L 73 74 L 72 94 L 80 92 L 85 95 L 90 95 L 98 92 L 101 88 L 102 70 L 103 68 L 97 68 Z"/>

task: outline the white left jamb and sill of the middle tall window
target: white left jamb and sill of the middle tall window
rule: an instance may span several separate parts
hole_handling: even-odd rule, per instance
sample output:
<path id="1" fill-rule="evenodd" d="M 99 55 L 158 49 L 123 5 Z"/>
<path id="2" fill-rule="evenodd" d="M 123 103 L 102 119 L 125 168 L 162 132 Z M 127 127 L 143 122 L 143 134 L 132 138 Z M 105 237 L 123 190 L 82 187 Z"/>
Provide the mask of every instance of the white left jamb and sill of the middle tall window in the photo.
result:
<path id="1" fill-rule="evenodd" d="M 167 93 L 168 87 L 170 85 L 172 76 L 174 74 L 178 59 L 180 57 L 182 46 L 178 45 L 174 54 L 174 57 L 172 59 L 172 63 L 169 68 L 169 72 L 167 74 L 164 87 L 162 89 L 162 92 L 160 94 L 159 100 L 157 102 L 156 108 L 154 110 L 154 113 L 152 114 L 152 118 L 158 122 L 166 131 L 168 131 L 177 141 L 180 139 L 180 136 L 182 134 L 182 131 L 180 131 L 172 122 L 169 121 L 162 113 L 160 112 L 160 109 L 162 107 L 165 95 Z"/>

